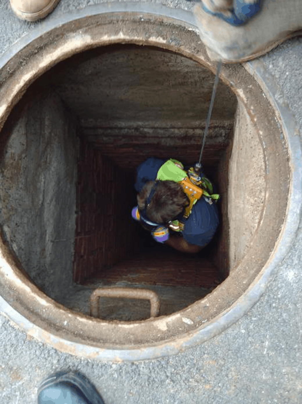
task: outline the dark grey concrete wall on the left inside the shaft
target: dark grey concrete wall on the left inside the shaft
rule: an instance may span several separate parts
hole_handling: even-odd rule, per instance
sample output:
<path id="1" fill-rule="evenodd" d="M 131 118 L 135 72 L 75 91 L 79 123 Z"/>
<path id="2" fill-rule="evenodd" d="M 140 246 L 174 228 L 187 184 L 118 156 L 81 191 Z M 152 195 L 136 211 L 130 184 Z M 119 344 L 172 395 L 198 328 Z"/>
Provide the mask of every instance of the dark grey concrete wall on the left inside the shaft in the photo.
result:
<path id="1" fill-rule="evenodd" d="M 72 284 L 76 123 L 58 95 L 35 96 L 2 131 L 0 223 L 31 280 L 58 299 Z"/>

